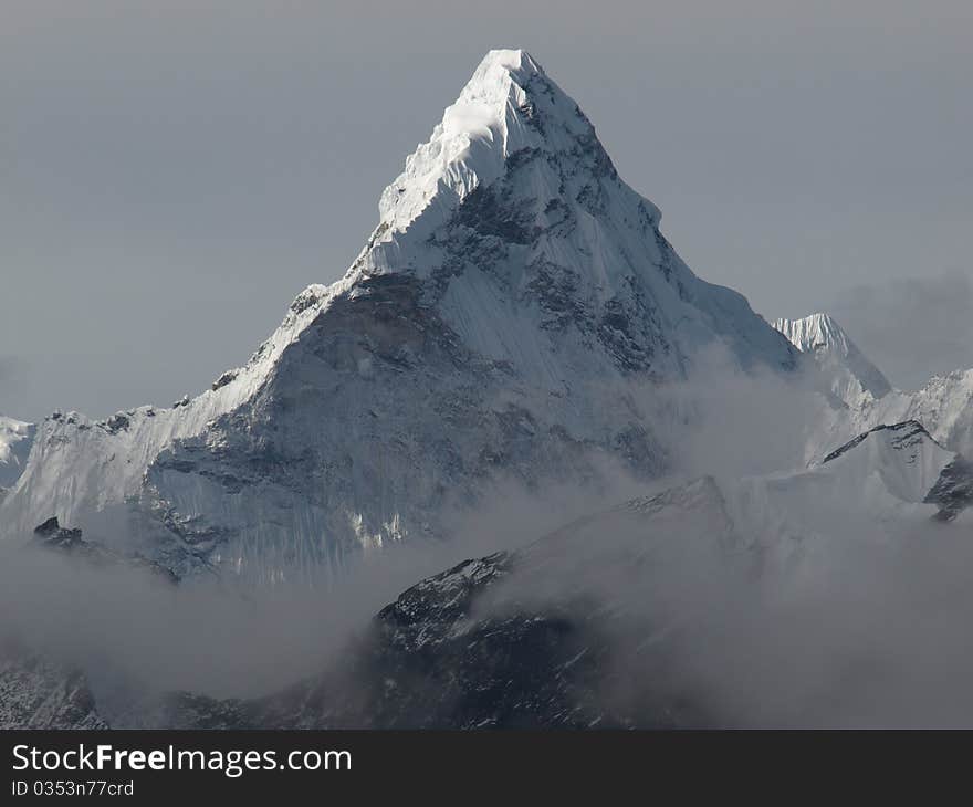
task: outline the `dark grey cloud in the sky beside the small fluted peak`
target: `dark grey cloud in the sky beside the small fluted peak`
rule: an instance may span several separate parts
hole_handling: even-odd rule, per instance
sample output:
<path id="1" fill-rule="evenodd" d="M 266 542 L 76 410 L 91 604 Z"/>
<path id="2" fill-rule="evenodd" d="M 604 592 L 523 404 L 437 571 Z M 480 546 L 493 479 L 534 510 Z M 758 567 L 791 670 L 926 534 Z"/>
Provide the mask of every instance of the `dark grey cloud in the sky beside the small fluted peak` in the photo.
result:
<path id="1" fill-rule="evenodd" d="M 966 273 L 858 285 L 830 313 L 894 386 L 973 367 L 973 280 Z"/>

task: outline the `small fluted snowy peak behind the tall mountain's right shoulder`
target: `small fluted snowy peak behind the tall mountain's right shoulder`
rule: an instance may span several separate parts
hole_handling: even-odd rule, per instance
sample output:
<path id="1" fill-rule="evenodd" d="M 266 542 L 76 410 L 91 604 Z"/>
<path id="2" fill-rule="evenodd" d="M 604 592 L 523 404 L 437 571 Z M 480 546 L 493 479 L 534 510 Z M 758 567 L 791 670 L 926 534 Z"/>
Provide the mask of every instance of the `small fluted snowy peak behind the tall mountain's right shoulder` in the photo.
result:
<path id="1" fill-rule="evenodd" d="M 802 353 L 814 356 L 833 395 L 847 404 L 881 398 L 892 386 L 827 314 L 776 319 L 774 327 Z"/>

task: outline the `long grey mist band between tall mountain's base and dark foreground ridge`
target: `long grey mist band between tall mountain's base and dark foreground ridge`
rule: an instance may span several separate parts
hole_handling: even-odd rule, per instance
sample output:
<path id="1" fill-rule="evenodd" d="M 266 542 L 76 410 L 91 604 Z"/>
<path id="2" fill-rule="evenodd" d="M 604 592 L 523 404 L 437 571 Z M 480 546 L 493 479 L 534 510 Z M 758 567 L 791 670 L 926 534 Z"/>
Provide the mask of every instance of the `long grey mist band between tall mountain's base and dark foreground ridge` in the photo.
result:
<path id="1" fill-rule="evenodd" d="M 609 482 L 598 489 L 552 484 L 527 492 L 500 480 L 474 511 L 454 506 L 444 514 L 449 539 L 391 543 L 339 575 L 322 572 L 274 586 L 206 574 L 172 585 L 121 556 L 93 565 L 7 542 L 0 545 L 0 639 L 82 669 L 108 709 L 129 708 L 133 691 L 268 694 L 339 661 L 377 611 L 422 578 L 523 546 L 618 495 L 645 490 L 608 460 L 603 470 Z M 88 524 L 95 527 L 85 530 L 85 541 L 124 548 L 126 527 L 113 527 L 111 516 L 80 520 Z M 127 543 L 139 545 L 133 535 Z"/>

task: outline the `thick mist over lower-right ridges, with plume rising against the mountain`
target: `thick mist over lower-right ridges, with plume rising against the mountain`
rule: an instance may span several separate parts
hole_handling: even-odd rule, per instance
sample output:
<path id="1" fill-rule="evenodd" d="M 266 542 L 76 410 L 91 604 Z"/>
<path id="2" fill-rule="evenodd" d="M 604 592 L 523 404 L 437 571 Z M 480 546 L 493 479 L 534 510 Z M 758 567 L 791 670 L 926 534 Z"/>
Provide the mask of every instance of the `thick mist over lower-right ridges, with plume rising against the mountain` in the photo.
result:
<path id="1" fill-rule="evenodd" d="M 652 515 L 611 510 L 526 552 L 479 617 L 558 608 L 607 642 L 603 702 L 656 725 L 934 727 L 973 723 L 971 521 L 903 504 L 894 520 L 823 489 L 767 509 L 747 474 L 799 455 L 814 379 L 741 375 L 661 390 L 699 419 L 666 480 L 708 474 L 712 500 Z M 707 391 L 702 390 L 702 391 Z M 794 468 L 795 465 L 789 465 Z M 677 704 L 677 705 L 673 705 Z"/>

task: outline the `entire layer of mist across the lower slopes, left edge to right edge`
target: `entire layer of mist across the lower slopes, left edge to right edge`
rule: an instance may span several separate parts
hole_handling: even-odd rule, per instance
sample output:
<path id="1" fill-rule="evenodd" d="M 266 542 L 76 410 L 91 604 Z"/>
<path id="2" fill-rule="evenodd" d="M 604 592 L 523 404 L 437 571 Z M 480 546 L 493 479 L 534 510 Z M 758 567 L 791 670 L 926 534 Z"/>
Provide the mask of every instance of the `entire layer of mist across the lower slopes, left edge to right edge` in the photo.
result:
<path id="1" fill-rule="evenodd" d="M 153 692 L 252 698 L 339 664 L 416 581 L 511 549 L 514 574 L 473 618 L 584 604 L 578 619 L 609 647 L 600 695 L 637 717 L 679 702 L 704 725 L 970 725 L 969 523 L 916 507 L 889 523 L 810 493 L 786 512 L 757 509 L 747 479 L 802 467 L 816 379 L 744 374 L 720 349 L 693 367 L 684 382 L 629 390 L 656 425 L 665 476 L 605 459 L 597 485 L 501 480 L 448 515 L 448 539 L 387 546 L 313 586 L 176 586 L 7 546 L 0 633 L 80 667 L 109 713 Z M 703 485 L 690 509 L 613 510 L 701 476 L 716 493 Z"/>

